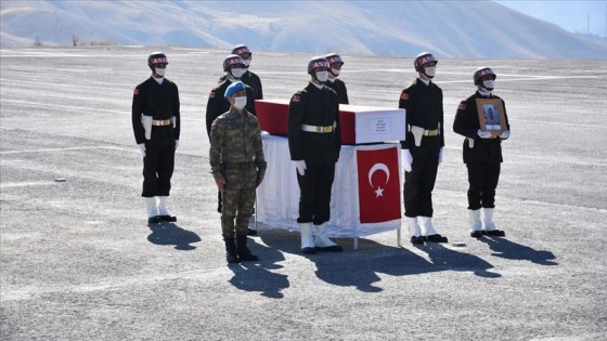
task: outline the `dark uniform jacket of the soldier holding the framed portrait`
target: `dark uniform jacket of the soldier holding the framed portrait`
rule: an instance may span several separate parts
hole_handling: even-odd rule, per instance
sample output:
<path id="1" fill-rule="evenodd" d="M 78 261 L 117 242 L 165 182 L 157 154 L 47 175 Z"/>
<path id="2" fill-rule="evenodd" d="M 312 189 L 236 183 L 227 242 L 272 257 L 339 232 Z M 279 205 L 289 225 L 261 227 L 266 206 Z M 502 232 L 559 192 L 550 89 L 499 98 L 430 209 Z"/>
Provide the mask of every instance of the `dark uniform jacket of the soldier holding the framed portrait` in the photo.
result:
<path id="1" fill-rule="evenodd" d="M 500 99 L 491 95 L 491 99 Z M 464 163 L 500 163 L 502 158 L 502 139 L 481 139 L 478 135 L 480 121 L 476 106 L 476 99 L 486 99 L 478 91 L 472 96 L 460 103 L 455 120 L 453 121 L 453 131 L 466 137 L 474 139 L 474 147 L 470 148 L 467 139 L 464 139 Z M 502 99 L 500 99 L 502 100 Z M 504 101 L 502 100 L 502 103 Z M 506 105 L 504 103 L 504 116 L 506 119 L 506 128 L 511 129 L 508 116 L 506 115 Z"/>

